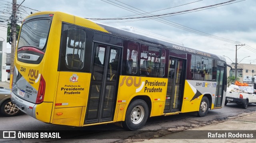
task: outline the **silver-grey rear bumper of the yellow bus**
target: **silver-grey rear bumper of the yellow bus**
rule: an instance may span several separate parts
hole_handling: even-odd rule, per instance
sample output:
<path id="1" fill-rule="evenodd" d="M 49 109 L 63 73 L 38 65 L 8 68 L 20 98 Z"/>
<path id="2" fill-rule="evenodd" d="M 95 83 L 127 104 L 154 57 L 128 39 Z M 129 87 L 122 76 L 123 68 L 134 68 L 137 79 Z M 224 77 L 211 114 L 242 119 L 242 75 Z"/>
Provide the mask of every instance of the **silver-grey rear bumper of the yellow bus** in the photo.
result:
<path id="1" fill-rule="evenodd" d="M 36 104 L 23 100 L 19 96 L 16 96 L 13 92 L 11 92 L 11 100 L 22 112 L 36 118 Z"/>

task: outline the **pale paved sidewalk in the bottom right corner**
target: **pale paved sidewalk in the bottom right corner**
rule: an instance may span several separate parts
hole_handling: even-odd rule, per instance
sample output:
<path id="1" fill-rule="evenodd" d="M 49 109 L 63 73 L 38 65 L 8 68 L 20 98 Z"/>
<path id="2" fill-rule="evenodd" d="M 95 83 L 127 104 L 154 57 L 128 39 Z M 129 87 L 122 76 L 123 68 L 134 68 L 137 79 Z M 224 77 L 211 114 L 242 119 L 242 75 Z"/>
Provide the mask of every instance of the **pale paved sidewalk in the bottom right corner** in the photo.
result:
<path id="1" fill-rule="evenodd" d="M 232 118 L 232 117 L 231 117 Z M 248 131 L 251 130 L 251 131 Z M 212 133 L 252 133 L 253 139 L 212 139 L 208 137 Z M 228 136 L 228 135 L 227 135 Z M 183 138 L 183 139 L 182 139 Z M 187 138 L 187 139 L 184 139 Z M 190 139 L 188 139 L 190 138 Z M 201 138 L 201 139 L 200 139 Z M 146 141 L 134 143 L 255 143 L 256 142 L 256 112 L 250 112 L 243 117 L 228 119 L 202 127 L 196 127 L 176 133 L 155 137 Z"/>

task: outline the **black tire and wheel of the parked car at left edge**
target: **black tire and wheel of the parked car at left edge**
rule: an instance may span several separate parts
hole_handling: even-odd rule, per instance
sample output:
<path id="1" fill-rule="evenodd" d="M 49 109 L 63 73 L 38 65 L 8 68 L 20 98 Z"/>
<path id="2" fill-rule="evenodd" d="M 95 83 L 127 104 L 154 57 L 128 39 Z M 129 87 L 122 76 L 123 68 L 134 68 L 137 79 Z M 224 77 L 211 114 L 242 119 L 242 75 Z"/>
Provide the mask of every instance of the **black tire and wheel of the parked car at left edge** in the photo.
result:
<path id="1" fill-rule="evenodd" d="M 8 99 L 2 103 L 0 112 L 2 115 L 10 117 L 18 115 L 20 110 Z"/>

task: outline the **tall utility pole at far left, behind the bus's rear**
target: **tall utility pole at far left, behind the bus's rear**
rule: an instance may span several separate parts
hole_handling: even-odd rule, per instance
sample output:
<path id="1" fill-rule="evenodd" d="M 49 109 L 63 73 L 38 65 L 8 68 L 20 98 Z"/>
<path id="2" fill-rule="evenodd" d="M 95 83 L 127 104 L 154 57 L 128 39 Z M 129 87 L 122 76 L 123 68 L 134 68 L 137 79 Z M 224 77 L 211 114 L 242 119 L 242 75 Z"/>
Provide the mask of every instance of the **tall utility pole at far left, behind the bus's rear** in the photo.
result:
<path id="1" fill-rule="evenodd" d="M 16 0 L 12 0 L 12 20 L 11 20 L 11 29 L 12 29 L 12 48 L 11 48 L 11 68 L 10 68 L 10 80 L 12 80 L 13 75 L 13 68 L 14 68 L 14 58 L 15 58 L 15 49 L 16 49 L 16 12 L 17 12 L 17 5 Z"/>

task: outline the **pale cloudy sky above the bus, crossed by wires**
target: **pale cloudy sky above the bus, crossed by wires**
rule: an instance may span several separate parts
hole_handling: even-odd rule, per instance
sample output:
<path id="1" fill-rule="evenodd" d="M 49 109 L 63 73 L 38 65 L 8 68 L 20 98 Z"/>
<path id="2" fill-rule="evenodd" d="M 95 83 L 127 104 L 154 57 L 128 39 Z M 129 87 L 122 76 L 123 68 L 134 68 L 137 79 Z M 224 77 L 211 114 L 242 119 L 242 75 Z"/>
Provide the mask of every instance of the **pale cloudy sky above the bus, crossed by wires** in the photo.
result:
<path id="1" fill-rule="evenodd" d="M 109 2 L 107 0 L 104 0 Z M 118 3 L 116 0 L 110 0 L 112 2 Z M 187 4 L 190 2 L 195 2 L 197 0 L 119 0 L 125 4 L 144 10 L 146 12 L 152 12 L 156 10 L 161 10 L 165 8 L 175 7 L 182 4 Z M 198 8 L 202 6 L 208 6 L 212 4 L 217 4 L 221 2 L 227 2 L 228 0 L 204 0 L 200 2 L 195 2 L 192 4 L 179 6 L 176 8 L 171 8 L 167 10 L 162 10 L 159 12 L 154 12 L 154 14 L 164 14 L 170 12 L 176 12 L 181 10 L 188 10 L 192 8 Z M 40 11 L 62 11 L 69 14 L 74 14 L 82 18 L 116 18 L 122 16 L 134 15 L 134 13 L 113 6 L 103 2 L 102 0 L 51 0 L 51 1 L 36 1 L 36 0 L 26 0 L 22 5 L 40 10 Z M 188 14 L 181 14 L 176 16 L 166 17 L 165 19 L 175 22 L 177 24 L 184 25 L 208 34 L 212 34 L 225 39 L 230 39 L 233 41 L 240 41 L 246 43 L 253 49 L 256 48 L 256 19 L 254 18 L 256 9 L 255 0 L 246 1 L 235 1 L 237 3 L 229 4 L 226 6 L 220 6 L 217 8 L 210 8 L 207 10 L 202 10 L 198 12 L 191 12 Z M 118 3 L 121 4 L 121 3 Z M 124 5 L 124 4 L 122 4 Z M 128 7 L 127 5 L 124 5 Z M 134 8 L 130 8 L 132 10 Z M 136 9 L 134 9 L 136 10 Z M 136 10 L 139 11 L 139 10 Z M 136 16 L 134 16 L 136 17 Z M 114 22 L 119 22 L 122 20 L 114 20 Z M 126 20 L 125 20 L 126 21 Z M 100 21 L 100 22 L 110 22 L 110 20 Z M 111 21 L 113 22 L 113 20 Z M 171 23 L 170 22 L 170 23 Z M 151 33 L 156 33 L 165 37 L 176 39 L 182 41 L 186 47 L 206 51 L 208 53 L 213 53 L 216 55 L 226 55 L 230 59 L 235 59 L 235 45 L 234 43 L 228 43 L 220 41 L 217 39 L 212 39 L 206 36 L 198 35 L 196 33 L 191 33 L 186 30 L 179 29 L 161 22 L 156 22 L 155 20 L 144 20 L 137 22 L 125 22 L 108 24 L 113 26 L 132 26 L 138 29 L 143 29 L 144 31 L 149 31 Z M 256 52 L 255 52 L 256 53 Z M 254 52 L 246 49 L 246 47 L 241 47 L 238 50 L 238 61 L 244 57 L 250 55 L 251 57 L 244 59 L 244 62 L 254 59 Z M 227 59 L 227 61 L 230 61 Z M 231 61 L 230 61 L 231 62 Z"/>

